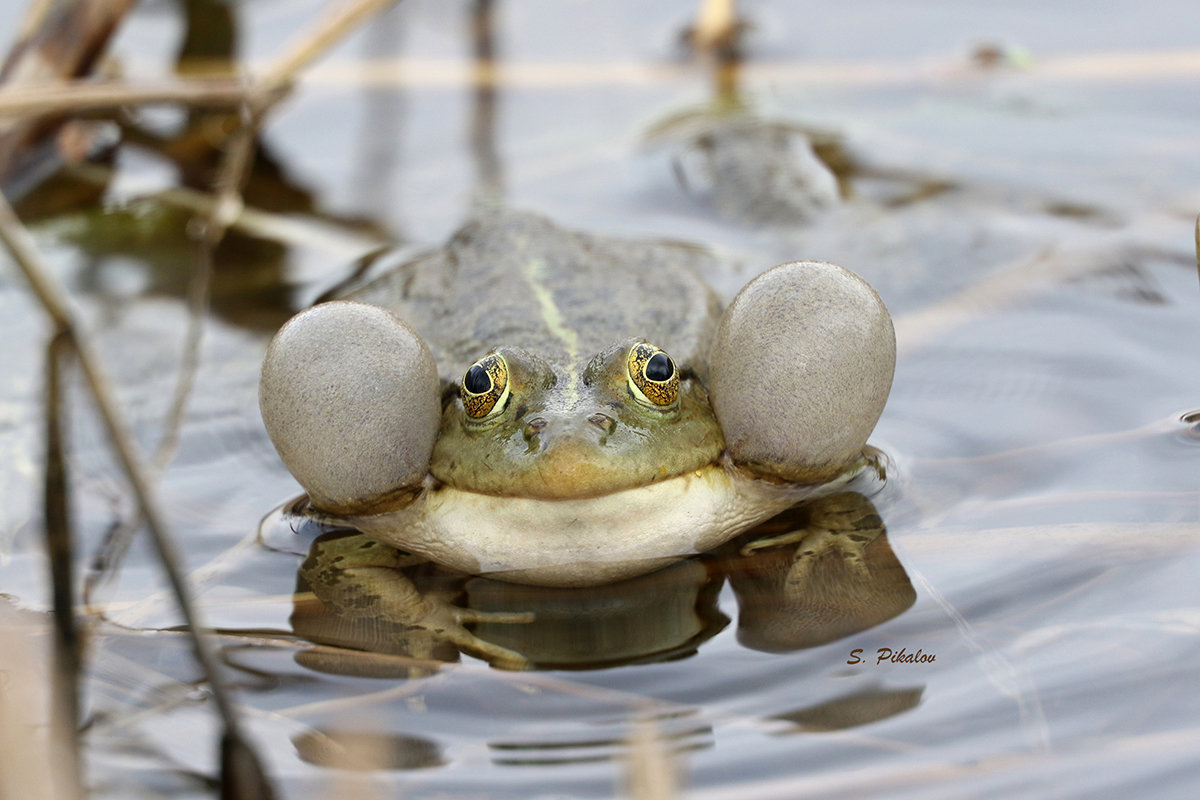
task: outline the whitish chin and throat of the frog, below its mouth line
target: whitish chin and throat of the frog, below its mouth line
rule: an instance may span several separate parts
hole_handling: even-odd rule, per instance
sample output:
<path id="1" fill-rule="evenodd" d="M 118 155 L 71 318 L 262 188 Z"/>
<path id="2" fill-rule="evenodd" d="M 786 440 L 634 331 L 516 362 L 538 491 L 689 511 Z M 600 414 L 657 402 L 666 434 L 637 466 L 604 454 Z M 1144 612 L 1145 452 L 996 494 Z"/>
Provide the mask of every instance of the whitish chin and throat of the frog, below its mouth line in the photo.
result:
<path id="1" fill-rule="evenodd" d="M 472 575 L 587 587 L 709 551 L 841 482 L 781 485 L 718 463 L 576 499 L 498 497 L 440 486 L 402 511 L 348 522 L 379 541 Z"/>

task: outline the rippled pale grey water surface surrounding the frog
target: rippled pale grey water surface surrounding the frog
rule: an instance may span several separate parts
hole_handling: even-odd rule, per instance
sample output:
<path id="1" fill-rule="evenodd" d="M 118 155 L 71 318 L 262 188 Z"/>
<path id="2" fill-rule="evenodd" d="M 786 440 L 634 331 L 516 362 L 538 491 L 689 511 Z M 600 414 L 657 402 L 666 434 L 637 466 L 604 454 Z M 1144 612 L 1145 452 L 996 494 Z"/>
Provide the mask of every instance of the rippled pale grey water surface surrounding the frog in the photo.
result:
<path id="1" fill-rule="evenodd" d="M 322 5 L 228 8 L 254 65 Z M 1200 7 L 745 11 L 742 100 L 839 132 L 863 166 L 842 206 L 805 224 L 721 216 L 680 190 L 670 145 L 646 145 L 662 120 L 712 101 L 709 74 L 674 44 L 689 4 L 499 4 L 491 161 L 473 149 L 463 4 L 401 4 L 307 73 L 269 124 L 293 190 L 258 201 L 300 209 L 310 237 L 226 251 L 160 493 L 284 796 L 337 786 L 306 742 L 347 732 L 407 753 L 366 777 L 389 796 L 611 796 L 630 721 L 646 716 L 695 798 L 1184 798 L 1200 786 L 1200 434 L 1184 421 L 1200 408 Z M 144 4 L 113 58 L 128 77 L 167 74 L 181 34 L 175 5 Z M 1006 46 L 1003 62 L 984 65 L 980 44 Z M 143 124 L 180 119 L 155 110 Z M 137 200 L 174 186 L 174 170 L 133 148 L 118 170 L 96 207 L 35 231 L 151 449 L 180 369 L 187 249 L 162 235 L 178 221 L 161 204 Z M 911 609 L 786 654 L 744 646 L 731 624 L 690 657 L 588 672 L 522 676 L 463 656 L 400 680 L 298 662 L 300 557 L 254 539 L 298 491 L 258 419 L 263 349 L 347 275 L 364 230 L 434 246 L 487 181 L 564 225 L 710 246 L 732 265 L 707 276 L 726 299 L 797 258 L 878 289 L 900 357 L 872 438 L 894 469 L 875 500 Z M 0 309 L 0 591 L 41 609 L 47 327 L 8 267 Z M 72 398 L 86 551 L 132 506 L 83 393 Z M 178 620 L 144 542 L 101 595 L 85 682 L 96 795 L 208 796 L 198 776 L 212 771 L 215 723 L 186 644 L 164 632 Z M 738 618 L 731 587 L 716 602 Z M 936 661 L 876 664 L 882 646 Z M 854 649 L 869 661 L 848 664 Z M 830 724 L 812 711 L 830 705 L 875 714 Z"/>

